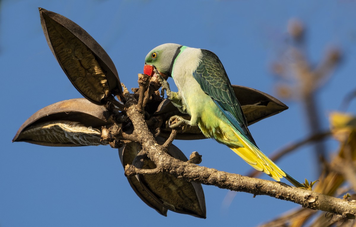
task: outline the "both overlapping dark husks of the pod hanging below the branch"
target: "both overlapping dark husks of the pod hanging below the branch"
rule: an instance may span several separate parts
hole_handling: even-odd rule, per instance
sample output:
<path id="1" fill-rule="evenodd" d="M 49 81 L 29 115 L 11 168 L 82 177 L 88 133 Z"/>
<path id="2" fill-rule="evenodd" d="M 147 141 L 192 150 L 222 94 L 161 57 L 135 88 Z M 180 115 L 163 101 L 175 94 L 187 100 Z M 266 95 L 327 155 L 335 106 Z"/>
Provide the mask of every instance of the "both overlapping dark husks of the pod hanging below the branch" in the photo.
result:
<path id="1" fill-rule="evenodd" d="M 158 139 L 158 141 L 162 143 L 163 140 Z M 122 165 L 125 167 L 127 164 L 132 164 L 143 169 L 155 168 L 153 161 L 148 159 L 147 155 L 142 155 L 143 151 L 140 149 L 142 149 L 141 145 L 134 142 L 120 148 Z M 182 161 L 188 160 L 174 145 L 168 148 L 168 154 Z M 166 173 L 131 176 L 127 177 L 127 180 L 141 200 L 161 215 L 167 216 L 168 209 L 206 218 L 204 192 L 200 184 L 183 181 Z"/>

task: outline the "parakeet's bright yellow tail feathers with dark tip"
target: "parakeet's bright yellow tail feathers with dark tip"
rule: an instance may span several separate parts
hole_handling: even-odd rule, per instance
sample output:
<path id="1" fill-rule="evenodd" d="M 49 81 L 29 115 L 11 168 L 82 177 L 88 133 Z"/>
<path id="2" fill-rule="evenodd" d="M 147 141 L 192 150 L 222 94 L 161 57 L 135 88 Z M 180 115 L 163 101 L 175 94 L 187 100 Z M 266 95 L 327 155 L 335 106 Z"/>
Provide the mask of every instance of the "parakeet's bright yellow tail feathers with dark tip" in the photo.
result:
<path id="1" fill-rule="evenodd" d="M 236 154 L 238 154 L 242 159 L 244 159 L 248 164 L 258 171 L 262 171 L 269 175 L 276 181 L 280 181 L 282 177 L 292 183 L 295 187 L 303 187 L 298 181 L 293 179 L 293 177 L 286 174 L 281 168 L 279 168 L 274 162 L 269 159 L 265 154 L 263 154 L 255 145 L 250 141 L 245 139 L 243 135 L 235 132 L 239 141 L 244 147 L 229 146 Z"/>

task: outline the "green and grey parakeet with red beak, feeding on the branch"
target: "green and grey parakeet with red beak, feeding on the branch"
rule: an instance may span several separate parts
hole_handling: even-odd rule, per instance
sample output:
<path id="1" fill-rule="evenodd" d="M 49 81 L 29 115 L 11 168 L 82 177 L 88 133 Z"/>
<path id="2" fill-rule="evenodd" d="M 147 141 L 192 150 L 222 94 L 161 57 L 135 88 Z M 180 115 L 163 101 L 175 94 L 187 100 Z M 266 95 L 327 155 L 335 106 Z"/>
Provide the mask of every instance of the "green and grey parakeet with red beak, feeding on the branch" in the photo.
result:
<path id="1" fill-rule="evenodd" d="M 151 50 L 145 58 L 144 73 L 154 76 L 155 69 L 164 79 L 172 77 L 176 83 L 178 92 L 171 92 L 161 78 L 168 98 L 181 112 L 191 116 L 190 120 L 179 119 L 180 123 L 198 125 L 207 138 L 227 145 L 253 168 L 274 180 L 286 177 L 294 186 L 302 187 L 258 149 L 224 66 L 215 53 L 166 43 Z"/>

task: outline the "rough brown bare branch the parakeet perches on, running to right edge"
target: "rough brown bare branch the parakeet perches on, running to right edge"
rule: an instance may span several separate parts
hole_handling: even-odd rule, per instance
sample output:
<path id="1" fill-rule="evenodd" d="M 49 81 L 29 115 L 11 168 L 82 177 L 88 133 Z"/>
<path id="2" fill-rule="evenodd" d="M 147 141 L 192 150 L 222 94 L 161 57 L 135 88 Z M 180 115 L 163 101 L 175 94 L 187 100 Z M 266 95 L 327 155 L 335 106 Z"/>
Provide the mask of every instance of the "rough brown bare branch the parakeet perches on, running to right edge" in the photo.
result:
<path id="1" fill-rule="evenodd" d="M 134 128 L 132 135 L 140 137 L 143 150 L 145 150 L 148 157 L 157 166 L 157 169 L 150 171 L 138 171 L 136 168 L 127 167 L 125 168 L 127 176 L 162 171 L 187 181 L 215 185 L 222 189 L 247 192 L 253 195 L 268 195 L 281 200 L 298 203 L 304 208 L 333 211 L 340 215 L 347 215 L 349 218 L 356 217 L 356 203 L 352 201 L 299 189 L 281 182 L 231 174 L 174 159 L 165 152 L 165 147 L 159 145 L 153 137 L 145 123 L 142 111 L 136 105 L 137 101 L 134 96 L 132 94 L 125 94 L 125 98 L 127 101 L 125 104 L 126 114 L 131 119 Z"/>

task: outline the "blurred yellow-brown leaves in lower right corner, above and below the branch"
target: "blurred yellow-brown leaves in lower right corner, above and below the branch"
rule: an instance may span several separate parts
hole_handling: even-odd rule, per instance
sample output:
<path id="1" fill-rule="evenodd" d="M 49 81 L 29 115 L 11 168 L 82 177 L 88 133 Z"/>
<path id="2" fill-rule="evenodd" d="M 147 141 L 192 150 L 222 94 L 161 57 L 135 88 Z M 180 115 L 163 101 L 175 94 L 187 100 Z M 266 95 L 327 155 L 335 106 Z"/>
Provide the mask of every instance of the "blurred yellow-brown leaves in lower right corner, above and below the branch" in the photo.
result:
<path id="1" fill-rule="evenodd" d="M 333 138 L 339 141 L 339 148 L 330 157 L 330 161 L 324 162 L 324 169 L 319 177 L 319 182 L 314 187 L 314 191 L 325 195 L 340 197 L 347 200 L 355 200 L 356 190 L 356 116 L 352 114 L 333 112 L 329 115 L 330 130 Z M 314 182 L 311 182 L 312 185 Z M 305 179 L 305 184 L 307 180 Z M 308 226 L 333 226 L 350 225 L 353 220 L 347 217 L 335 216 L 334 222 L 329 222 L 325 212 L 314 210 L 298 209 L 286 215 L 266 223 L 265 226 L 289 226 L 299 227 L 313 219 Z M 350 221 L 350 222 L 349 222 Z M 309 223 L 309 222 L 308 222 Z"/>

